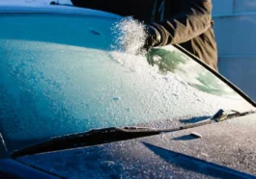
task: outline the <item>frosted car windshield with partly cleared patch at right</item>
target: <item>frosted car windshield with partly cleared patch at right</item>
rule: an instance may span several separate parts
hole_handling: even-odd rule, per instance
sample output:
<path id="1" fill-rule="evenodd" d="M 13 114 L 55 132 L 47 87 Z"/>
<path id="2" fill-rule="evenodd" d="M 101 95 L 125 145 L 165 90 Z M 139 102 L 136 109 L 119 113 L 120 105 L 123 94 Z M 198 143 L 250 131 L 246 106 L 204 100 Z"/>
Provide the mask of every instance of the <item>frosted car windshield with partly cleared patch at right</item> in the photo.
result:
<path id="1" fill-rule="evenodd" d="M 253 108 L 171 45 L 147 58 L 114 50 L 116 21 L 1 13 L 0 132 L 11 151 L 94 128 L 174 127 Z"/>

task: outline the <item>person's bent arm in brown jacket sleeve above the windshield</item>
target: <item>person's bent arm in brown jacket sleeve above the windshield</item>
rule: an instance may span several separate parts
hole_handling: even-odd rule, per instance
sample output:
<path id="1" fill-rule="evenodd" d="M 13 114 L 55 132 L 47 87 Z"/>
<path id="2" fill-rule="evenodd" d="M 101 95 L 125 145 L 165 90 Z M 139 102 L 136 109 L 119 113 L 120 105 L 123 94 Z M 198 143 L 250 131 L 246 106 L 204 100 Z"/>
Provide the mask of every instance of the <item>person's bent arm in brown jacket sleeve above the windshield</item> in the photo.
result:
<path id="1" fill-rule="evenodd" d="M 183 1 L 182 13 L 153 24 L 161 35 L 157 46 L 183 43 L 212 26 L 212 0 L 180 1 Z"/>

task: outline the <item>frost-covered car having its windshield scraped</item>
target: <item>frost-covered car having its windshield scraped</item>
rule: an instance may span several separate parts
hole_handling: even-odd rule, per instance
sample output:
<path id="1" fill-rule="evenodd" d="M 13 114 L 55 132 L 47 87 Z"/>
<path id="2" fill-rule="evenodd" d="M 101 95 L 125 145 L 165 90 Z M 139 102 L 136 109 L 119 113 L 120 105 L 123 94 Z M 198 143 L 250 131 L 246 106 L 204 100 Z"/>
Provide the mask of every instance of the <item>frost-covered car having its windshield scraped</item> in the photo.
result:
<path id="1" fill-rule="evenodd" d="M 56 6 L 0 7 L 0 178 L 255 178 L 242 90 L 179 45 L 115 48 L 119 15 Z"/>

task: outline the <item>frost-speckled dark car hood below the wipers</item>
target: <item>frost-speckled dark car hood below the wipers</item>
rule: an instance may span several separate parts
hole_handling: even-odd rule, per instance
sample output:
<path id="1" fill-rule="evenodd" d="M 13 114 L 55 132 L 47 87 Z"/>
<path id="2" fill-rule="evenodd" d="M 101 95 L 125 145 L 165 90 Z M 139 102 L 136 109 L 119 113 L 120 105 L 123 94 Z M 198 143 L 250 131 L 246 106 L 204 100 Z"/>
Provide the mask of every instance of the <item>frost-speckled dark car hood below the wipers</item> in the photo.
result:
<path id="1" fill-rule="evenodd" d="M 202 138 L 190 134 L 196 132 Z M 18 160 L 68 178 L 241 178 L 256 174 L 256 115 Z M 252 175 L 250 175 L 252 174 Z"/>

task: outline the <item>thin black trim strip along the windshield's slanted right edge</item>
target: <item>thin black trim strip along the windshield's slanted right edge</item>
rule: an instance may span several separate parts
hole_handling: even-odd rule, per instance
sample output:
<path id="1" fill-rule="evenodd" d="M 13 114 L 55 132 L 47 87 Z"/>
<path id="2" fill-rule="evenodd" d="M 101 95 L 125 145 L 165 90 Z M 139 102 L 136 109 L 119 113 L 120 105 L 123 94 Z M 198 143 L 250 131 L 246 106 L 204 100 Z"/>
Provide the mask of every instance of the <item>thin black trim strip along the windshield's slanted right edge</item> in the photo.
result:
<path id="1" fill-rule="evenodd" d="M 240 88 L 238 88 L 237 86 L 235 86 L 233 83 L 231 83 L 228 79 L 226 79 L 224 76 L 222 76 L 220 73 L 218 73 L 217 71 L 215 71 L 210 65 L 203 63 L 202 61 L 199 60 L 199 58 L 197 58 L 196 56 L 194 56 L 193 54 L 191 54 L 190 52 L 188 52 L 187 50 L 185 50 L 185 48 L 183 48 L 182 46 L 178 45 L 178 44 L 174 44 L 173 45 L 175 48 L 177 48 L 178 50 L 180 50 L 181 52 L 185 53 L 186 56 L 188 56 L 189 58 L 191 58 L 193 61 L 195 61 L 198 64 L 201 64 L 202 66 L 204 66 L 206 69 L 208 69 L 210 72 L 213 73 L 213 75 L 215 77 L 217 77 L 218 79 L 220 79 L 222 82 L 224 82 L 228 87 L 230 87 L 232 90 L 235 90 L 238 94 L 240 94 L 242 96 L 243 99 L 245 99 L 248 103 L 250 103 L 253 107 L 256 107 L 256 103 L 254 100 L 252 100 L 247 94 L 245 94 Z"/>

